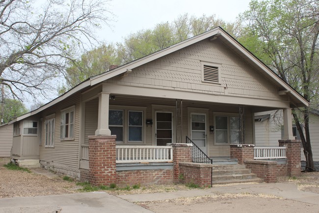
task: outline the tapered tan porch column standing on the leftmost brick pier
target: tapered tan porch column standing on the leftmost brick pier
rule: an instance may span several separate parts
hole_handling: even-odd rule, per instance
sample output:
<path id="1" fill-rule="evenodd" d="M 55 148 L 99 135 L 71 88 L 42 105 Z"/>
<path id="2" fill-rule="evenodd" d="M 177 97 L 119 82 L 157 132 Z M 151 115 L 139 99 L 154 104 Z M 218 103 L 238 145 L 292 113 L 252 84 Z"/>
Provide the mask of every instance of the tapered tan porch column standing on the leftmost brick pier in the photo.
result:
<path id="1" fill-rule="evenodd" d="M 111 135 L 111 130 L 108 129 L 109 94 L 108 92 L 99 94 L 98 129 L 95 131 L 95 135 Z"/>

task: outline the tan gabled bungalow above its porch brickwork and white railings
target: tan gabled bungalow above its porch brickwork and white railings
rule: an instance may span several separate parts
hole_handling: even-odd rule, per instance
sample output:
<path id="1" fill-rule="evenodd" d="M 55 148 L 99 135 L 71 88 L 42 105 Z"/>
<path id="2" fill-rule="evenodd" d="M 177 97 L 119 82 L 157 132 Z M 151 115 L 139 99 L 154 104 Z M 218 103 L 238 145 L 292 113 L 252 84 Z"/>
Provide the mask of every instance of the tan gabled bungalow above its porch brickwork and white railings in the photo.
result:
<path id="1" fill-rule="evenodd" d="M 217 27 L 91 77 L 14 123 L 12 157 L 79 177 L 88 136 L 165 146 L 188 136 L 212 157 L 254 144 L 254 113 L 308 106 L 265 64 Z M 285 138 L 292 139 L 286 122 Z"/>

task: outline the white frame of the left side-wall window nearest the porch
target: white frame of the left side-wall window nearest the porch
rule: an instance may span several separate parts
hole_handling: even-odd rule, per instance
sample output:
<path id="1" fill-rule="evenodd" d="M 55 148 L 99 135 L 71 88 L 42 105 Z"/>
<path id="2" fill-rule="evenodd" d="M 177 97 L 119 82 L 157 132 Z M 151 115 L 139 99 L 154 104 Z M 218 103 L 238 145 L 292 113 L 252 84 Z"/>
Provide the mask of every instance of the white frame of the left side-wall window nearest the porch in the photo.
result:
<path id="1" fill-rule="evenodd" d="M 71 122 L 71 112 L 73 112 L 73 121 Z M 68 137 L 65 136 L 65 130 L 66 130 L 66 114 L 69 114 L 68 115 L 68 123 L 67 123 L 67 126 L 68 126 Z M 63 121 L 63 122 L 62 122 Z M 71 137 L 70 133 L 71 133 L 71 124 L 73 124 L 73 137 Z M 62 131 L 63 129 L 63 131 Z M 63 135 L 62 135 L 63 134 Z M 61 115 L 60 115 L 60 140 L 61 141 L 70 141 L 70 140 L 74 140 L 75 139 L 75 106 L 72 106 L 72 107 L 69 107 L 69 108 L 66 108 L 66 109 L 63 109 L 61 110 Z"/>

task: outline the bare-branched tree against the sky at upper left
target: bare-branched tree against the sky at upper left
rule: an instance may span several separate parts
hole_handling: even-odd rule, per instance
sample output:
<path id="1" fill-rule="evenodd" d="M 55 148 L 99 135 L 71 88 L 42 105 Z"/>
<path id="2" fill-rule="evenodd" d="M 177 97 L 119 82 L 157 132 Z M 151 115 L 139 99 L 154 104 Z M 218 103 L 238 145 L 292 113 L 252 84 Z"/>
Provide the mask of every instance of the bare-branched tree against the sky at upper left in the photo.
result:
<path id="1" fill-rule="evenodd" d="M 20 100 L 46 95 L 108 15 L 103 0 L 0 0 L 0 84 Z"/>

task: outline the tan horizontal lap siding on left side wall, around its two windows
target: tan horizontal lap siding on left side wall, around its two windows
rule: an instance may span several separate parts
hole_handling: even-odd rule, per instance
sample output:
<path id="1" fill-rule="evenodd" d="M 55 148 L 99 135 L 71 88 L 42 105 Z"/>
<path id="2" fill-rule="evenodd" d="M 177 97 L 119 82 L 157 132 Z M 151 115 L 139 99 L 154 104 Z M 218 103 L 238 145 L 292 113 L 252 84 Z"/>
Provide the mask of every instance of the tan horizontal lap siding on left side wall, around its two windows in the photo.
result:
<path id="1" fill-rule="evenodd" d="M 60 139 L 61 110 L 75 106 L 74 140 Z M 55 114 L 54 147 L 45 147 L 45 118 Z M 40 160 L 55 162 L 70 167 L 79 167 L 79 131 L 80 131 L 80 94 L 75 94 L 61 101 L 42 114 L 43 134 L 40 146 Z"/>

